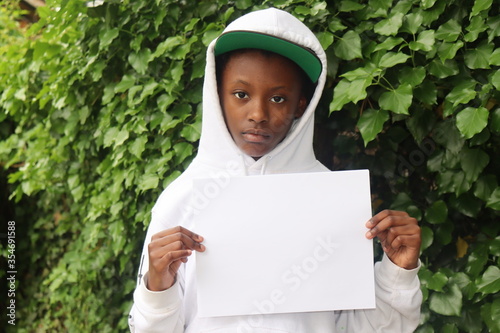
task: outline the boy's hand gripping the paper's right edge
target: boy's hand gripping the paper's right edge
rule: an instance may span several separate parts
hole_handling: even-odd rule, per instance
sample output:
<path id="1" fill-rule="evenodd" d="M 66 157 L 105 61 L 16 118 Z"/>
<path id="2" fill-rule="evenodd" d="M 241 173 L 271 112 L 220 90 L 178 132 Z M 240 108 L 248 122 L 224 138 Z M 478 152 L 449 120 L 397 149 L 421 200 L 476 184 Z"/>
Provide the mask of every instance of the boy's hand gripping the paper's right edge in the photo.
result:
<path id="1" fill-rule="evenodd" d="M 368 222 L 366 238 L 378 237 L 384 252 L 399 267 L 413 269 L 418 266 L 420 254 L 420 227 L 406 212 L 384 210 Z"/>

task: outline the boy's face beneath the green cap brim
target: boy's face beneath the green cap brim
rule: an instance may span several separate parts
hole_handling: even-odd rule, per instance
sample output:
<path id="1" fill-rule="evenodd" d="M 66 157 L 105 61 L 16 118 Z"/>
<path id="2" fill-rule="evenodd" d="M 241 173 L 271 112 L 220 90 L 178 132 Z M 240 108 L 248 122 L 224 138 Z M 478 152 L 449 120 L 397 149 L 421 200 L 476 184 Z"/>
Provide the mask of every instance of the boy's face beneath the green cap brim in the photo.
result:
<path id="1" fill-rule="evenodd" d="M 235 53 L 221 78 L 219 96 L 227 128 L 240 150 L 254 159 L 273 150 L 306 109 L 299 68 L 280 55 Z"/>

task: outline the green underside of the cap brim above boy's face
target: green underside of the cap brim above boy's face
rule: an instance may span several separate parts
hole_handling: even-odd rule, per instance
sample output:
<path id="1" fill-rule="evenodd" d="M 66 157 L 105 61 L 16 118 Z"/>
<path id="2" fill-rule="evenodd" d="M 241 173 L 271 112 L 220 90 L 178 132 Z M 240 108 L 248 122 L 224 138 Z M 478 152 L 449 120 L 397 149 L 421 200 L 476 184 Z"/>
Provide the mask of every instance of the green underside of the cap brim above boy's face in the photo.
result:
<path id="1" fill-rule="evenodd" d="M 253 31 L 230 31 L 222 34 L 215 43 L 216 56 L 240 49 L 261 49 L 282 55 L 299 65 L 313 83 L 321 74 L 321 61 L 314 52 L 275 36 Z"/>

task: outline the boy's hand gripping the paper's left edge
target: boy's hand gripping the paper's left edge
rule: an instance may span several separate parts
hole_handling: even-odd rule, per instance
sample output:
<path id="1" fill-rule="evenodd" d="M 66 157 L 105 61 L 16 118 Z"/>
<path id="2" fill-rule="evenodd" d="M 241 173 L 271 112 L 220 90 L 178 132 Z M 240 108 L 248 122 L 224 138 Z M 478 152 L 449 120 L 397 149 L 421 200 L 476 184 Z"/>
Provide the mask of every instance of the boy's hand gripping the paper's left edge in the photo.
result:
<path id="1" fill-rule="evenodd" d="M 151 291 L 170 288 L 175 282 L 179 267 L 187 262 L 192 251 L 205 251 L 202 241 L 203 237 L 180 226 L 153 235 L 148 245 L 147 288 Z"/>

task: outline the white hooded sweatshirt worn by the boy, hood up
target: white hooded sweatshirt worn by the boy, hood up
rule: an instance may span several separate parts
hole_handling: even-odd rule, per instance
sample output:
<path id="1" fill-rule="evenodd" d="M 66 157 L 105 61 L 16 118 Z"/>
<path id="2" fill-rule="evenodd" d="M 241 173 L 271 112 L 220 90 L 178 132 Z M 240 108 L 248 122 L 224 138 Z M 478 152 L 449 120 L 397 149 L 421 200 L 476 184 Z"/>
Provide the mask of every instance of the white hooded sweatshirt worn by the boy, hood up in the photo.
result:
<path id="1" fill-rule="evenodd" d="M 213 41 L 207 50 L 203 88 L 203 126 L 199 151 L 188 169 L 163 191 L 152 211 L 139 267 L 130 330 L 142 332 L 413 332 L 419 323 L 422 295 L 417 269 L 404 270 L 384 256 L 375 265 L 376 309 L 256 316 L 200 318 L 197 315 L 195 256 L 183 264 L 175 284 L 161 292 L 149 291 L 148 243 L 151 236 L 176 225 L 195 231 L 192 223 L 196 195 L 192 179 L 236 175 L 327 171 L 312 148 L 314 110 L 326 78 L 326 56 L 314 34 L 298 19 L 277 9 L 247 14 L 224 32 L 255 31 L 311 49 L 322 63 L 316 90 L 304 115 L 287 137 L 259 160 L 242 153 L 229 134 L 217 93 Z M 361 222 L 361 223 L 364 223 Z"/>

